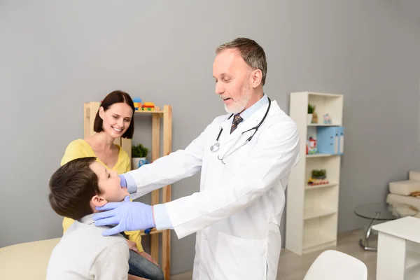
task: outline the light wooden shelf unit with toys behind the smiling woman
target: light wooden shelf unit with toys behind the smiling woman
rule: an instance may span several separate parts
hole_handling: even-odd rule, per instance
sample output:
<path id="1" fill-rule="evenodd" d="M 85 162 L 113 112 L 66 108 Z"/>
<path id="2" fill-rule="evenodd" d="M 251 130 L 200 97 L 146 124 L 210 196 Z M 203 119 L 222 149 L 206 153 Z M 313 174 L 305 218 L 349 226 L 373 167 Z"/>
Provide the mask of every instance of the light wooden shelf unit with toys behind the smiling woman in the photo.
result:
<path id="1" fill-rule="evenodd" d="M 93 123 L 94 116 L 96 116 L 100 102 L 88 102 L 83 107 L 83 125 L 84 137 L 90 137 L 94 134 Z M 163 110 L 156 106 L 155 111 L 136 111 L 134 118 L 137 114 L 150 114 L 152 116 L 152 162 L 160 158 L 160 125 L 161 120 L 163 123 L 163 155 L 169 155 L 172 152 L 172 106 L 165 105 Z M 132 150 L 132 139 L 118 138 L 114 141 L 115 144 L 120 145 L 130 156 Z M 162 191 L 162 201 L 160 201 L 160 192 Z M 154 190 L 151 193 L 152 205 L 165 203 L 171 201 L 172 193 L 171 186 L 165 186 L 160 190 Z M 151 235 L 151 255 L 159 261 L 159 234 L 162 234 L 162 267 L 165 279 L 170 279 L 171 274 L 171 232 L 170 230 L 156 230 L 153 228 L 148 235 Z M 141 231 L 141 235 L 146 235 Z"/>

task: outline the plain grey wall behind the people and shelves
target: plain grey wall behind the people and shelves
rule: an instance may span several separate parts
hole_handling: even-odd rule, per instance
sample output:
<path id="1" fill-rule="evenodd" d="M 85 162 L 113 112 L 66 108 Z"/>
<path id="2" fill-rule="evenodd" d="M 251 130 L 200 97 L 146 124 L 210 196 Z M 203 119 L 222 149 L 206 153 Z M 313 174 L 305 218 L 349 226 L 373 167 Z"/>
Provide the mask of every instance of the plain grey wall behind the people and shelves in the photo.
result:
<path id="1" fill-rule="evenodd" d="M 419 31 L 393 1 L 1 1 L 0 246 L 61 235 L 47 183 L 83 137 L 84 102 L 121 89 L 171 104 L 184 148 L 224 113 L 214 49 L 237 36 L 265 48 L 265 92 L 286 112 L 289 92 L 344 94 L 339 231 L 359 228 L 357 204 L 420 169 Z M 134 142 L 148 145 L 150 119 L 137 120 Z M 176 183 L 173 198 L 198 182 Z M 172 272 L 192 269 L 195 237 L 172 240 Z"/>

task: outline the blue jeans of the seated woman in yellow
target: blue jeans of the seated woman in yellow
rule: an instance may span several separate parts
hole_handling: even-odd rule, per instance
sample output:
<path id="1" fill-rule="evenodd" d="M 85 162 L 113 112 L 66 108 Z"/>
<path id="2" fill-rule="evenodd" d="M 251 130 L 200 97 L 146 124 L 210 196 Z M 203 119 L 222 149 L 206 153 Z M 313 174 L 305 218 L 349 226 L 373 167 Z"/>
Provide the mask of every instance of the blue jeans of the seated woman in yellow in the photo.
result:
<path id="1" fill-rule="evenodd" d="M 130 270 L 128 274 L 134 276 L 143 277 L 150 280 L 163 280 L 163 271 L 158 265 L 155 265 L 153 262 L 149 262 L 146 258 L 143 258 L 138 253 L 130 251 L 130 259 L 128 260 L 128 265 Z"/>

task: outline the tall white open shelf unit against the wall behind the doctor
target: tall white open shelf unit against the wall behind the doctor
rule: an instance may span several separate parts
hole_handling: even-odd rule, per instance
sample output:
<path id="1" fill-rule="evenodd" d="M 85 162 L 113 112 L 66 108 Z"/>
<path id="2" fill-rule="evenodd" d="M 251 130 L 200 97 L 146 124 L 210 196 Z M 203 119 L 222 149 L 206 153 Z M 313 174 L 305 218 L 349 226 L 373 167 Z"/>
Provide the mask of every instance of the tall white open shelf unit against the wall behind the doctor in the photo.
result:
<path id="1" fill-rule="evenodd" d="M 308 104 L 318 123 L 307 123 Z M 332 124 L 323 124 L 325 113 Z M 297 255 L 337 245 L 340 155 L 306 154 L 309 135 L 318 126 L 342 126 L 343 96 L 318 92 L 290 94 L 290 118 L 300 136 L 300 161 L 290 174 L 286 203 L 286 248 Z M 328 184 L 309 186 L 312 169 L 325 169 Z"/>

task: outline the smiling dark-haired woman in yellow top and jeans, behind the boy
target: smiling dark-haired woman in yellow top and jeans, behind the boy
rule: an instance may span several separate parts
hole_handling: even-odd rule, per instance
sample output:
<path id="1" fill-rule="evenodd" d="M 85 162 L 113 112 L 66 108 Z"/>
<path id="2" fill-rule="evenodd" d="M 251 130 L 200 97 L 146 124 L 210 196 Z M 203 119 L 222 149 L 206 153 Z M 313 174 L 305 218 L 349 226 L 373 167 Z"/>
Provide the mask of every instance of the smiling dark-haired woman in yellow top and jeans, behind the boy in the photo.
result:
<path id="1" fill-rule="evenodd" d="M 134 104 L 129 94 L 122 91 L 109 93 L 102 101 L 94 119 L 96 134 L 87 139 L 76 139 L 67 146 L 61 165 L 75 158 L 97 157 L 97 162 L 118 174 L 130 171 L 130 158 L 119 145 L 114 144 L 118 137 L 132 139 L 134 134 Z M 64 218 L 63 230 L 73 223 Z M 138 230 L 124 232 L 130 247 L 129 274 L 147 279 L 163 279 L 162 269 L 141 246 Z"/>

